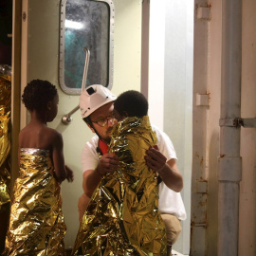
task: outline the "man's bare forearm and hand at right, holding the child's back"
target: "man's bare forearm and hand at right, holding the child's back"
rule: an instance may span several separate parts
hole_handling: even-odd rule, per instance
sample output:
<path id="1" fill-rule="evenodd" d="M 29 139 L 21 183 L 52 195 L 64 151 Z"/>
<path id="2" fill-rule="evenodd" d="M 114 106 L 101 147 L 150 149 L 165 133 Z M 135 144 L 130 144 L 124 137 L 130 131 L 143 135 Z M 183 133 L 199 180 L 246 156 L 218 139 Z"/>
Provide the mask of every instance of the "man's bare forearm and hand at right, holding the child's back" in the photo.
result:
<path id="1" fill-rule="evenodd" d="M 175 159 L 166 161 L 167 158 L 159 152 L 156 145 L 147 150 L 146 154 L 146 164 L 160 175 L 169 189 L 180 192 L 183 188 L 183 177 L 178 171 Z"/>

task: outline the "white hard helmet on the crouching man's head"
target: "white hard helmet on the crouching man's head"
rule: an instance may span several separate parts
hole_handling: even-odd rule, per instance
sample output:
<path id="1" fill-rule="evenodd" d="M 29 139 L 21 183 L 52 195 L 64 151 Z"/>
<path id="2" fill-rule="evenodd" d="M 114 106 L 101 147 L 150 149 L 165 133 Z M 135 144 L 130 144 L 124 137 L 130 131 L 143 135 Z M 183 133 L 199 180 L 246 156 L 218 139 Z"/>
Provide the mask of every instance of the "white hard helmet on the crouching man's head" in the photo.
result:
<path id="1" fill-rule="evenodd" d="M 80 110 L 82 119 L 90 116 L 102 105 L 115 101 L 117 96 L 101 84 L 94 84 L 82 91 L 80 96 Z"/>

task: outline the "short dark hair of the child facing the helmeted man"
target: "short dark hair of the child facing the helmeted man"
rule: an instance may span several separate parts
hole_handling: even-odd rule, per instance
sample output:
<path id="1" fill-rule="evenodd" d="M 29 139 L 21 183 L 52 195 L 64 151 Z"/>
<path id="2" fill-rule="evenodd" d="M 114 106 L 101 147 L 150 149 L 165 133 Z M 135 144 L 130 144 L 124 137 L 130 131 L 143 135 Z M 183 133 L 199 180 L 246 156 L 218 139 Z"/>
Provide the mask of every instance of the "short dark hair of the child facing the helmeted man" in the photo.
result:
<path id="1" fill-rule="evenodd" d="M 120 115 L 126 112 L 128 117 L 142 118 L 148 114 L 149 103 L 142 93 L 129 90 L 119 95 L 114 108 Z"/>

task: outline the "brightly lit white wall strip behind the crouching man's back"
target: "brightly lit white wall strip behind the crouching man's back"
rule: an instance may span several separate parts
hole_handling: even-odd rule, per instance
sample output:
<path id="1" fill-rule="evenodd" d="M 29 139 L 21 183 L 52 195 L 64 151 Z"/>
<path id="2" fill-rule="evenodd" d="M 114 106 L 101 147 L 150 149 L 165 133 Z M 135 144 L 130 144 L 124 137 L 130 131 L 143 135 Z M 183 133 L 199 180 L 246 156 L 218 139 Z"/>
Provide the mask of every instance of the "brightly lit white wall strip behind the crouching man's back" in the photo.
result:
<path id="1" fill-rule="evenodd" d="M 193 0 L 150 2 L 149 116 L 172 139 L 188 218 L 174 249 L 190 252 Z"/>

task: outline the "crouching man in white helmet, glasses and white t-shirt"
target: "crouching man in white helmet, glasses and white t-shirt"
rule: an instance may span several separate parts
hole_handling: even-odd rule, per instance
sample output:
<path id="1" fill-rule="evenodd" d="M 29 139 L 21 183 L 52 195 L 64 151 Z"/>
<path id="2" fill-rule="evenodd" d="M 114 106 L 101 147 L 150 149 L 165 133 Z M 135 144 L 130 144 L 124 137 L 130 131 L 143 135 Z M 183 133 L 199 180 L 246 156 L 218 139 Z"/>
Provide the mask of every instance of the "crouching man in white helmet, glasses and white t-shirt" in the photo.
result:
<path id="1" fill-rule="evenodd" d="M 107 152 L 111 130 L 118 121 L 113 113 L 116 100 L 117 97 L 102 85 L 87 87 L 80 97 L 82 119 L 91 131 L 96 133 L 96 136 L 87 141 L 82 149 L 84 193 L 79 200 L 80 221 L 101 177 L 113 173 L 119 167 L 117 156 Z M 179 221 L 186 219 L 186 211 L 179 193 L 183 187 L 182 175 L 177 171 L 172 141 L 156 126 L 153 125 L 153 128 L 157 137 L 157 146 L 148 150 L 145 159 L 147 165 L 160 174 L 164 181 L 159 184 L 159 211 L 163 214 L 163 220 L 165 217 L 168 219 L 164 220 L 165 224 L 171 223 L 170 216 L 174 217 L 172 223 L 176 222 L 177 228 L 169 230 L 174 237 L 171 243 L 173 245 L 181 231 Z"/>

